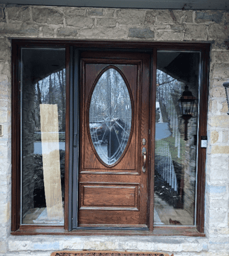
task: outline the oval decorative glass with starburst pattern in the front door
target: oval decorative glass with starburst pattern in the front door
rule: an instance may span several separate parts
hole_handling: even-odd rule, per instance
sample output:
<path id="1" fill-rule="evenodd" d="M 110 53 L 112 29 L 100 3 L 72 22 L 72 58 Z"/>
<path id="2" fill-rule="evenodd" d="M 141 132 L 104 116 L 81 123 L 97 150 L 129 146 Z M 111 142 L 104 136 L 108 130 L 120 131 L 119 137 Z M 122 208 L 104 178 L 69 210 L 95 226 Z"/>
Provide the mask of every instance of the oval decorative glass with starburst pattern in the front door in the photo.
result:
<path id="1" fill-rule="evenodd" d="M 131 132 L 132 107 L 126 83 L 117 70 L 106 70 L 98 79 L 89 107 L 89 129 L 98 157 L 115 164 Z"/>

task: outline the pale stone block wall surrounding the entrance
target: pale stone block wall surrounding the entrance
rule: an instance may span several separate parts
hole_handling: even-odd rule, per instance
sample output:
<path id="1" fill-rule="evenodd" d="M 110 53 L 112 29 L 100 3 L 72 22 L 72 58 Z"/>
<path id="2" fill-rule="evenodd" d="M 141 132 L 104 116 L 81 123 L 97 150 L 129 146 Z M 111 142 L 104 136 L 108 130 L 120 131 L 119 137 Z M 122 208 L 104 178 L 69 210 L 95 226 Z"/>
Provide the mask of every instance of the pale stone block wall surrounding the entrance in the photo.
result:
<path id="1" fill-rule="evenodd" d="M 222 83 L 229 79 L 229 13 L 0 5 L 0 255 L 50 255 L 62 249 L 163 251 L 228 255 L 229 116 Z M 205 238 L 10 235 L 10 38 L 211 42 Z"/>

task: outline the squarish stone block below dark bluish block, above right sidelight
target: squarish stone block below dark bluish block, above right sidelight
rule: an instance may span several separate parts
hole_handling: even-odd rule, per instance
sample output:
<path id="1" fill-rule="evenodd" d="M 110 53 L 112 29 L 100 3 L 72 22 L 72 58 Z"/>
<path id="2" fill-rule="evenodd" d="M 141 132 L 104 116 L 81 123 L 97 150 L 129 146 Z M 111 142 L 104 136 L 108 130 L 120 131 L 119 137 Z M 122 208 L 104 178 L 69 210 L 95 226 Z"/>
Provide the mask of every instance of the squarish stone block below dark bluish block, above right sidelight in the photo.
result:
<path id="1" fill-rule="evenodd" d="M 207 27 L 204 24 L 187 24 L 185 30 L 185 40 L 206 40 Z"/>

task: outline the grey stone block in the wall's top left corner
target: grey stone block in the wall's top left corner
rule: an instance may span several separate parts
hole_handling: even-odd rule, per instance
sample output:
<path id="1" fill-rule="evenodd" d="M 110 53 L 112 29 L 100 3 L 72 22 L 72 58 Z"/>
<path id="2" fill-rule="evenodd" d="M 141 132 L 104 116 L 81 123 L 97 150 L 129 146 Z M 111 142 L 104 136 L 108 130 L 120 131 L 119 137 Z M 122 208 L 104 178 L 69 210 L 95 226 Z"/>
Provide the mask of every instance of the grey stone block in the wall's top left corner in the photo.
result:
<path id="1" fill-rule="evenodd" d="M 6 8 L 8 19 L 13 21 L 30 21 L 30 7 L 13 6 Z"/>

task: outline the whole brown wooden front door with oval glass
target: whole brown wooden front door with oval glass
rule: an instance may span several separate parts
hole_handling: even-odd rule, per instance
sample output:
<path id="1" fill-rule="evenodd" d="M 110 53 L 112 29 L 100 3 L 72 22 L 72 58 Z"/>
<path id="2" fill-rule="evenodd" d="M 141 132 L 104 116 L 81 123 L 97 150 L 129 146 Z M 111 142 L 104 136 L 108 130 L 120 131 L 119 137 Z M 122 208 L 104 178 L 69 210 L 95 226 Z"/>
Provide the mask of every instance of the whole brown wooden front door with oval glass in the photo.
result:
<path id="1" fill-rule="evenodd" d="M 150 56 L 80 58 L 78 226 L 147 227 Z"/>

